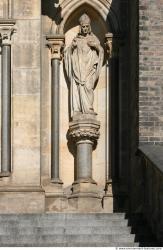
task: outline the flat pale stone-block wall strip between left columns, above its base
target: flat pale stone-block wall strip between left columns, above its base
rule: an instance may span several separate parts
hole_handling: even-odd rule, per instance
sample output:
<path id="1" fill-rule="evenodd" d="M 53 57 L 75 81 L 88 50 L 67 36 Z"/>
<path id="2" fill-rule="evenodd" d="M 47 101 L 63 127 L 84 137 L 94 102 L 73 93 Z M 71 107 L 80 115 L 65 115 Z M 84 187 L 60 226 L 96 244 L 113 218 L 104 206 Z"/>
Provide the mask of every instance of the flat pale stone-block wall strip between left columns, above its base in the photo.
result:
<path id="1" fill-rule="evenodd" d="M 14 0 L 13 181 L 40 184 L 40 0 Z"/>

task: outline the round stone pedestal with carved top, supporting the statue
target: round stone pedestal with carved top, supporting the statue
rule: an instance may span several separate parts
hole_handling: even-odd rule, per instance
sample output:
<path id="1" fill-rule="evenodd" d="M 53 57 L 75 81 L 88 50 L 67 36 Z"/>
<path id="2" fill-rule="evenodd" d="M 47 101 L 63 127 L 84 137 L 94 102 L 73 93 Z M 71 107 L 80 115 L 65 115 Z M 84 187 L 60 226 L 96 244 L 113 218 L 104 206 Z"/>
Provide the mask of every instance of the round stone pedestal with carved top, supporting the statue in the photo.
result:
<path id="1" fill-rule="evenodd" d="M 69 124 L 68 140 L 75 151 L 76 178 L 72 184 L 69 206 L 79 211 L 100 211 L 101 197 L 92 179 L 92 151 L 99 138 L 100 123 L 94 114 L 73 117 Z"/>

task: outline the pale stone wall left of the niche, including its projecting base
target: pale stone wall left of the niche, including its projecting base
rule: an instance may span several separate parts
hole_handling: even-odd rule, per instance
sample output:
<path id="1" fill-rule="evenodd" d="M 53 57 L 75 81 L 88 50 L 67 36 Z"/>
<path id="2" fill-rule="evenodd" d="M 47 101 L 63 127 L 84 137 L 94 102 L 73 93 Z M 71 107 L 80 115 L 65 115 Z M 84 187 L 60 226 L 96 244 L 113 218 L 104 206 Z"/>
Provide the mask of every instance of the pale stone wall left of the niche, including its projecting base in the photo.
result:
<path id="1" fill-rule="evenodd" d="M 16 22 L 11 41 L 11 175 L 0 181 L 0 212 L 43 212 L 44 194 L 40 188 L 41 1 L 3 0 L 0 17 Z"/>

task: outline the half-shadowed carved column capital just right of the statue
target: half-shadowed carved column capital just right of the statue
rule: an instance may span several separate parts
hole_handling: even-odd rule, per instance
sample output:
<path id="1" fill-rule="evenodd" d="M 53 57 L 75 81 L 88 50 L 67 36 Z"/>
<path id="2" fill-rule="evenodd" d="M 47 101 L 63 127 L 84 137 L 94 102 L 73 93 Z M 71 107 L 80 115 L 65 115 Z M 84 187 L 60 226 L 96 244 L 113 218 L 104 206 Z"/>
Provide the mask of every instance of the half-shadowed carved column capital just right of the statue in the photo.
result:
<path id="1" fill-rule="evenodd" d="M 120 47 L 120 36 L 112 33 L 105 34 L 105 47 L 108 58 L 118 57 Z"/>

